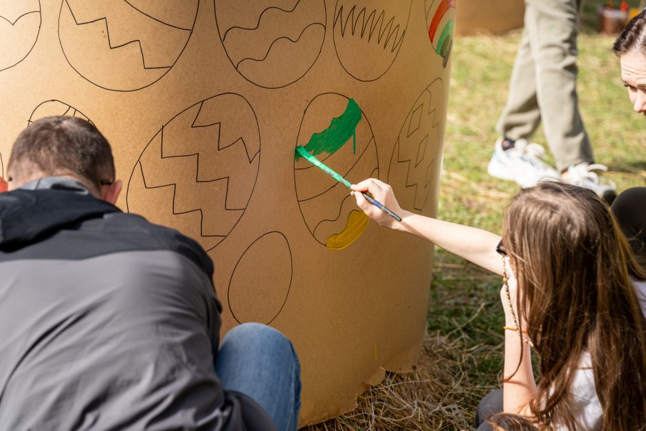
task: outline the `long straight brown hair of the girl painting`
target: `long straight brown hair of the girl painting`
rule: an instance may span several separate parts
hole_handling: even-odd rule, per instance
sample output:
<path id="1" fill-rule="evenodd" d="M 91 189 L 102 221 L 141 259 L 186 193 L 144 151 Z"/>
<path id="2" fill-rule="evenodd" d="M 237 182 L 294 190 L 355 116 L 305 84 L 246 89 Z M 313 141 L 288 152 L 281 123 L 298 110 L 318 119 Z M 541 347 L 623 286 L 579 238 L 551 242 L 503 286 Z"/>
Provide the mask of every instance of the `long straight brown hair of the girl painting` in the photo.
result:
<path id="1" fill-rule="evenodd" d="M 646 271 L 608 206 L 592 190 L 547 181 L 513 199 L 502 237 L 539 355 L 535 425 L 582 429 L 571 390 L 587 352 L 602 429 L 646 429 L 646 318 L 633 285 Z"/>

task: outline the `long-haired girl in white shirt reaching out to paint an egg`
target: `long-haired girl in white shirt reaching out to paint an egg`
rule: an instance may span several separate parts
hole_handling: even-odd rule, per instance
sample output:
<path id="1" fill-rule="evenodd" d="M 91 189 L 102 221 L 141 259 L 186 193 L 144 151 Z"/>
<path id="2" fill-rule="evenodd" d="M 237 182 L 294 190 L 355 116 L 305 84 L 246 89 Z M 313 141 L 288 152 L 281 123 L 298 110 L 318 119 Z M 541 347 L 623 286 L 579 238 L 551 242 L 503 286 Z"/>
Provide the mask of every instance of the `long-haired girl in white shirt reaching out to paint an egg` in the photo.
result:
<path id="1" fill-rule="evenodd" d="M 395 221 L 355 193 L 377 223 L 503 277 L 502 393 L 483 400 L 493 415 L 480 417 L 478 430 L 646 429 L 646 270 L 594 192 L 554 181 L 521 190 L 506 210 L 501 239 L 402 210 L 377 179 L 353 190 L 372 193 L 402 217 Z M 540 358 L 538 384 L 531 349 Z M 502 404 L 492 411 L 496 397 Z"/>

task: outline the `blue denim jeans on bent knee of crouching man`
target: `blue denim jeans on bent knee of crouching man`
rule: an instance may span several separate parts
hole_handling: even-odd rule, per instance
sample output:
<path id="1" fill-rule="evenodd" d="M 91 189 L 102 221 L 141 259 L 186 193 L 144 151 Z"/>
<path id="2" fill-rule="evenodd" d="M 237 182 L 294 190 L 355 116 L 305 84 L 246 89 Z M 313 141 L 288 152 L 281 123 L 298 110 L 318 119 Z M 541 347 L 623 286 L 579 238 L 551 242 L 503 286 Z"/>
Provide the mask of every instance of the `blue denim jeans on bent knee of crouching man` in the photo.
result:
<path id="1" fill-rule="evenodd" d="M 215 373 L 225 390 L 260 404 L 279 430 L 296 431 L 300 362 L 285 335 L 264 324 L 238 325 L 222 340 Z"/>

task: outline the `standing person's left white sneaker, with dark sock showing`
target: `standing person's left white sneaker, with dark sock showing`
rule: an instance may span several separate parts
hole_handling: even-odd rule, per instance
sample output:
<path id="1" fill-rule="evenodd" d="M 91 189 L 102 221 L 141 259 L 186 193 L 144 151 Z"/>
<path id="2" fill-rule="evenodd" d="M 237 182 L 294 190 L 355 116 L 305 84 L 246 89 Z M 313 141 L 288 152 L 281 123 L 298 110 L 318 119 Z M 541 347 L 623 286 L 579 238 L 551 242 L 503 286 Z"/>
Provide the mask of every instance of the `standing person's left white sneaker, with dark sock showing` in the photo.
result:
<path id="1" fill-rule="evenodd" d="M 519 139 L 514 147 L 502 150 L 502 137 L 495 141 L 493 155 L 487 172 L 492 177 L 516 181 L 521 187 L 531 187 L 539 181 L 561 179 L 561 175 L 552 166 L 542 161 L 545 149 L 535 143 Z"/>

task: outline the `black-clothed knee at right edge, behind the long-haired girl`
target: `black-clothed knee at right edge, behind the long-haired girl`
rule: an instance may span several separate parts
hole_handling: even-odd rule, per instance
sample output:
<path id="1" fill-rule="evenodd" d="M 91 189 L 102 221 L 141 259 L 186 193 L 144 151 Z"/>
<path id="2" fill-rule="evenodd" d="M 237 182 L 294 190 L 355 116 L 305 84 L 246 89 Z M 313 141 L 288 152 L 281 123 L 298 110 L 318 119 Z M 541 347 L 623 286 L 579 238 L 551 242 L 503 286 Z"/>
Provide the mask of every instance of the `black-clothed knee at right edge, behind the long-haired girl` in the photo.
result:
<path id="1" fill-rule="evenodd" d="M 624 190 L 611 208 L 638 261 L 646 263 L 646 187 Z"/>

